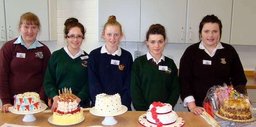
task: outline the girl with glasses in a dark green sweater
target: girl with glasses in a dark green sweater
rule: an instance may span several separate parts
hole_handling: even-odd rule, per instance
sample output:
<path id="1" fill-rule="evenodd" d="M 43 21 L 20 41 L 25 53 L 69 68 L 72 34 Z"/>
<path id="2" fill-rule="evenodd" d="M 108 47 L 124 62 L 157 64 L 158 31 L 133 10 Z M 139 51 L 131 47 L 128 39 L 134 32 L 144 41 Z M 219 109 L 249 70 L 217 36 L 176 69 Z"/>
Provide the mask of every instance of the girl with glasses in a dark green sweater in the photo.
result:
<path id="1" fill-rule="evenodd" d="M 46 70 L 45 93 L 53 100 L 53 109 L 57 107 L 58 90 L 72 88 L 77 96 L 76 102 L 83 108 L 90 107 L 87 60 L 89 54 L 80 46 L 86 29 L 76 18 L 68 18 L 64 23 L 64 38 L 68 45 L 54 51 Z"/>

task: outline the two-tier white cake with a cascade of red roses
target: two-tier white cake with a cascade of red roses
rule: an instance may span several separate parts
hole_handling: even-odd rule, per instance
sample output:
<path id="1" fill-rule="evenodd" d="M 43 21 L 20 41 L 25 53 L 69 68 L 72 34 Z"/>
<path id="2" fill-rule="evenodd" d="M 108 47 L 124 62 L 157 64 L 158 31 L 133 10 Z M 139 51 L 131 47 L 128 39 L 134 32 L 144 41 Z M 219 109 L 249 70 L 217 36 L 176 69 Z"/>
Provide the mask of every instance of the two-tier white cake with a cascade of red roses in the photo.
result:
<path id="1" fill-rule="evenodd" d="M 177 120 L 177 114 L 173 111 L 173 106 L 168 103 L 153 102 L 146 113 L 150 123 L 168 125 Z"/>

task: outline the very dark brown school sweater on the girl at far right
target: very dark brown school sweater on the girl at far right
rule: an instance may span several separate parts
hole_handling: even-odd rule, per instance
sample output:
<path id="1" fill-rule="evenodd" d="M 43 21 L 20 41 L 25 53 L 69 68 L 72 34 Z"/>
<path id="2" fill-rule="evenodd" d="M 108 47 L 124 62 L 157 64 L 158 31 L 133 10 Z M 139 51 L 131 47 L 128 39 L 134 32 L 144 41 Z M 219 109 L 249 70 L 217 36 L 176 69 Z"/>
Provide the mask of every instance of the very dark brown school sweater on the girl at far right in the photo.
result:
<path id="1" fill-rule="evenodd" d="M 244 69 L 235 49 L 225 43 L 213 57 L 199 49 L 199 43 L 189 46 L 181 57 L 179 78 L 181 99 L 192 95 L 197 106 L 203 106 L 207 91 L 214 85 L 223 83 L 245 85 L 247 80 Z"/>

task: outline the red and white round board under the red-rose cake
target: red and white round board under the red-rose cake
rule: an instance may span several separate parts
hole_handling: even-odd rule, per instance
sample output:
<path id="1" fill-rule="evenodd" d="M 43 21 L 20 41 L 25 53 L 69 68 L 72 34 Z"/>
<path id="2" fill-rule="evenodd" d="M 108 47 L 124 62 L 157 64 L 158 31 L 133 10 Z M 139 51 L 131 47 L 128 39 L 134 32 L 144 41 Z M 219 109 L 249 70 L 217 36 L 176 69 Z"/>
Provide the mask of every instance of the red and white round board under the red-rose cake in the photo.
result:
<path id="1" fill-rule="evenodd" d="M 157 124 L 150 123 L 147 121 L 146 118 L 143 118 L 143 116 L 146 116 L 146 113 L 139 116 L 139 123 L 144 127 L 157 127 Z M 181 116 L 177 117 L 177 120 L 169 125 L 163 125 L 162 127 L 182 127 L 184 125 L 185 121 Z"/>

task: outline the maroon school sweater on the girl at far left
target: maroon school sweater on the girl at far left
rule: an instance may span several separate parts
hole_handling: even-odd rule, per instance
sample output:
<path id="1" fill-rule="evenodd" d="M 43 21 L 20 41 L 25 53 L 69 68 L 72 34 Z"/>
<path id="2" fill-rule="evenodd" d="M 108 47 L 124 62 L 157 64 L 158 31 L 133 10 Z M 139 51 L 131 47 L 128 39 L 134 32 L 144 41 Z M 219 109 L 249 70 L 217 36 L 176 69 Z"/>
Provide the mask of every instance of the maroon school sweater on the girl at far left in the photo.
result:
<path id="1" fill-rule="evenodd" d="M 45 70 L 51 56 L 49 48 L 27 49 L 22 44 L 13 44 L 17 40 L 6 42 L 0 49 L 0 98 L 3 105 L 14 99 L 16 94 L 33 91 L 47 102 L 43 88 Z"/>

